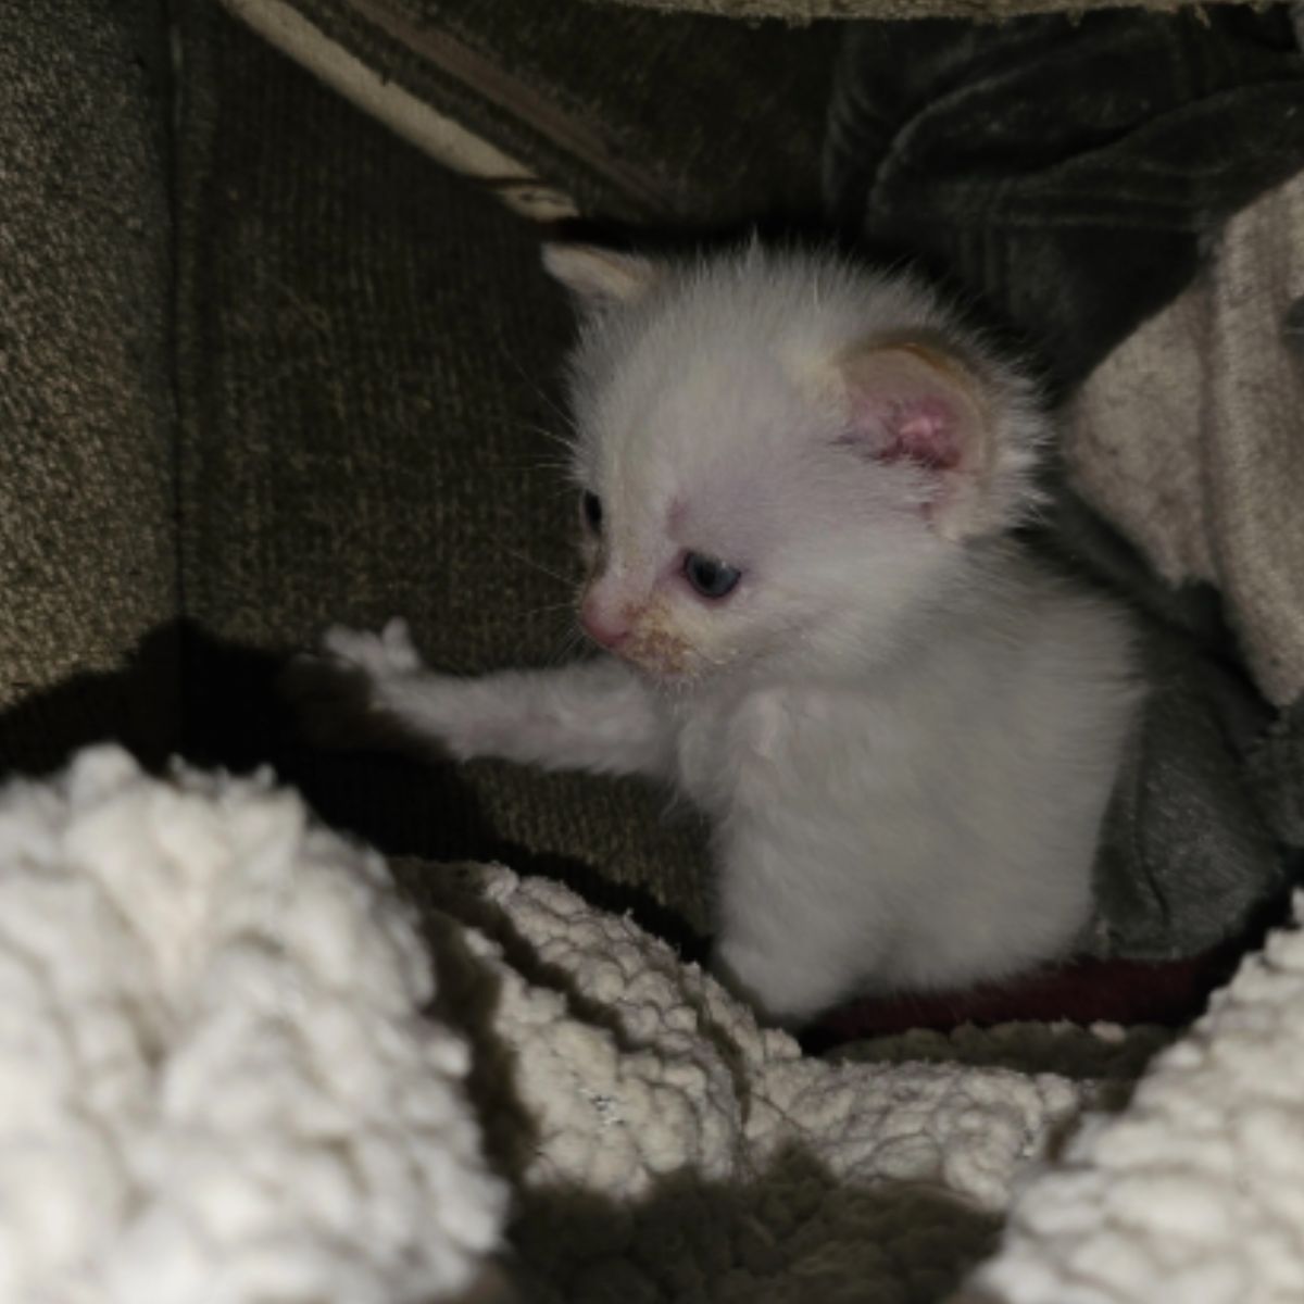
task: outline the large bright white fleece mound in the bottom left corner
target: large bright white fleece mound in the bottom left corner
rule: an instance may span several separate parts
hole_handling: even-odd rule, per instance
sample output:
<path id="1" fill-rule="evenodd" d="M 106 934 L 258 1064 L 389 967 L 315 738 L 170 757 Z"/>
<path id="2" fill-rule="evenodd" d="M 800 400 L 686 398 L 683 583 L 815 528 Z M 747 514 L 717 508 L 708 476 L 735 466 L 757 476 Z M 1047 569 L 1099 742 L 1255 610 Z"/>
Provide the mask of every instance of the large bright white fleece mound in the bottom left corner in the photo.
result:
<path id="1" fill-rule="evenodd" d="M 0 1299 L 447 1299 L 506 1192 L 383 863 L 111 747 L 0 792 Z"/>

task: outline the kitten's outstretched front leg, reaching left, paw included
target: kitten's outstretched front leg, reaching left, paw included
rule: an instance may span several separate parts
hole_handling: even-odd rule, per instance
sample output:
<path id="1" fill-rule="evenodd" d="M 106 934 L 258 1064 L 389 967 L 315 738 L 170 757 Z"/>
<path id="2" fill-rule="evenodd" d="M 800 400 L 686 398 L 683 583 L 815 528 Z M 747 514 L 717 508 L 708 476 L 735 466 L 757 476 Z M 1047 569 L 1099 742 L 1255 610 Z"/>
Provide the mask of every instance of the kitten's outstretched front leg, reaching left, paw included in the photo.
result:
<path id="1" fill-rule="evenodd" d="M 381 634 L 327 631 L 322 652 L 292 668 L 287 694 L 323 741 L 390 733 L 438 743 L 458 760 L 499 756 L 549 769 L 665 776 L 673 750 L 656 695 L 619 661 L 438 674 L 422 666 L 398 619 Z"/>

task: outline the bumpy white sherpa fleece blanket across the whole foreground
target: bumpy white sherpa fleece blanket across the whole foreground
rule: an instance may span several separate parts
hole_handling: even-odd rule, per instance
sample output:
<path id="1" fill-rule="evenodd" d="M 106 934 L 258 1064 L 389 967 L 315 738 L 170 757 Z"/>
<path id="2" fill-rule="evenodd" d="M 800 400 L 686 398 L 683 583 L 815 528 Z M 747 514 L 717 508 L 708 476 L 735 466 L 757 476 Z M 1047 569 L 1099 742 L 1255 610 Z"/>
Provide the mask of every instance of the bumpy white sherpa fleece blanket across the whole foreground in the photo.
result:
<path id="1" fill-rule="evenodd" d="M 0 1304 L 1304 1297 L 1294 932 L 1108 1116 L 971 1060 L 1116 1033 L 811 1059 L 556 883 L 403 878 L 269 776 L 0 792 Z"/>

